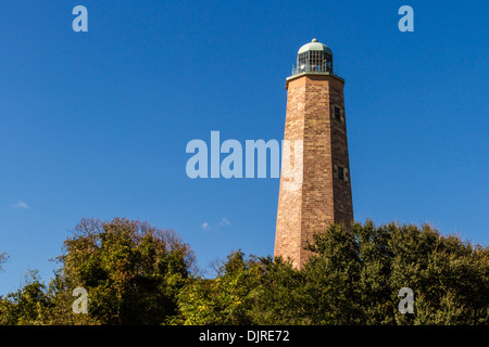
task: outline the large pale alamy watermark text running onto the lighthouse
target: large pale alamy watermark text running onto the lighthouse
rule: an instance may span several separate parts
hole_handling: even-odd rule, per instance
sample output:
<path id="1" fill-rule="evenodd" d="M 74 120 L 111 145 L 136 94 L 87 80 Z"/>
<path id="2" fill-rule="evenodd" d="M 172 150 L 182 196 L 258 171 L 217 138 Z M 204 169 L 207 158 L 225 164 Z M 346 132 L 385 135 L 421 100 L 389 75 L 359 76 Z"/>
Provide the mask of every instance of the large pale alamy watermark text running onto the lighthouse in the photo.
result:
<path id="1" fill-rule="evenodd" d="M 302 185 L 302 140 L 283 140 L 281 146 L 277 140 L 267 142 L 246 140 L 243 146 L 238 140 L 233 139 L 221 143 L 220 131 L 211 131 L 210 143 L 209 146 L 205 141 L 199 139 L 187 143 L 186 153 L 193 154 L 186 165 L 189 178 L 255 178 L 255 172 L 256 178 L 266 178 L 268 168 L 269 178 L 280 178 L 281 157 L 284 189 L 297 190 Z M 222 154 L 226 154 L 223 159 L 221 158 Z"/>

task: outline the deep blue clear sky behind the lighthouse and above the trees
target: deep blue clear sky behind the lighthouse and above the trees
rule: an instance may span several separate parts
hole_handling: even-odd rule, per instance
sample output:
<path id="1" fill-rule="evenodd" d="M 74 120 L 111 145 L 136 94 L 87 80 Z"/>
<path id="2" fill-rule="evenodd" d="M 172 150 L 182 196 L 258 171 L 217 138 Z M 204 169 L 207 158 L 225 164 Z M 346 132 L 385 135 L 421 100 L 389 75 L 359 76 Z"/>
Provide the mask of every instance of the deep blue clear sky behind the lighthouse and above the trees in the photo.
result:
<path id="1" fill-rule="evenodd" d="M 88 9 L 88 33 L 72 9 Z M 400 33 L 398 9 L 414 9 Z M 278 179 L 191 180 L 188 141 L 281 139 L 298 49 L 334 52 L 355 219 L 487 245 L 487 1 L 0 2 L 0 294 L 83 217 L 173 228 L 206 268 L 273 254 Z M 20 203 L 21 202 L 21 203 Z M 226 222 L 222 222 L 225 218 Z M 208 223 L 208 228 L 202 228 Z"/>

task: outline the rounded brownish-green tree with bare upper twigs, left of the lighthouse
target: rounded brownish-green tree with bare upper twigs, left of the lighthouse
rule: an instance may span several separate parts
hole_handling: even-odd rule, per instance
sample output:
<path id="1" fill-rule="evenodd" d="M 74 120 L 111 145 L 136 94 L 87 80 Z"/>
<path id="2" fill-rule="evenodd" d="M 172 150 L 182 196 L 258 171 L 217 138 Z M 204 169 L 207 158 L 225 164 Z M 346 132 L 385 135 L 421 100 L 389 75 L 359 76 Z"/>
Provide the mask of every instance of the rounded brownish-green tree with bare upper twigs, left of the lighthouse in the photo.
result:
<path id="1" fill-rule="evenodd" d="M 52 319 L 68 324 L 76 287 L 88 292 L 88 317 L 76 314 L 83 323 L 162 324 L 176 313 L 176 296 L 195 271 L 190 247 L 174 231 L 124 218 L 82 220 L 58 260 Z"/>

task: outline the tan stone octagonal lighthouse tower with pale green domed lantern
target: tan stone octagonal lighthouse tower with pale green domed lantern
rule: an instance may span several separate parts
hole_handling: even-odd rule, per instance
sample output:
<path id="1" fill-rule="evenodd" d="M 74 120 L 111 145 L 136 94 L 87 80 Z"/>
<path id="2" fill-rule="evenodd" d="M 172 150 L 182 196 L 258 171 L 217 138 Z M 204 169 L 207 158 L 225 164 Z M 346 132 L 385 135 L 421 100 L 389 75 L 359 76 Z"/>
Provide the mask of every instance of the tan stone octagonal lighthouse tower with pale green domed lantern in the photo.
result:
<path id="1" fill-rule="evenodd" d="M 353 221 L 343 86 L 327 46 L 313 39 L 301 47 L 292 75 L 286 80 L 287 115 L 275 234 L 275 256 L 290 257 L 299 268 L 311 255 L 303 247 L 314 233 L 331 223 L 350 229 Z M 292 149 L 298 145 L 302 147 L 301 163 L 297 160 L 300 153 Z M 293 178 L 284 171 L 284 163 L 302 169 L 301 184 L 288 184 Z"/>

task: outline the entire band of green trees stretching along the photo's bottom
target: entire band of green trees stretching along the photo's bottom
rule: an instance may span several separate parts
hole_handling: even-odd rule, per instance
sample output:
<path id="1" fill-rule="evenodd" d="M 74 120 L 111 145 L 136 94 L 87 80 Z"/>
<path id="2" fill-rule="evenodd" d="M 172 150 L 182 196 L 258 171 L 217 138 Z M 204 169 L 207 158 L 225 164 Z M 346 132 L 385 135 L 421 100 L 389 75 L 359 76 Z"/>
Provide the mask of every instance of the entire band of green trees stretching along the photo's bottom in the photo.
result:
<path id="1" fill-rule="evenodd" d="M 173 230 L 83 219 L 46 284 L 29 271 L 0 296 L 2 325 L 321 325 L 489 323 L 489 248 L 424 224 L 355 222 L 314 235 L 302 269 L 233 250 L 206 278 Z M 4 250 L 4 249 L 0 249 Z M 0 269 L 8 258 L 0 253 Z M 1 280 L 1 273 L 0 273 Z M 75 313 L 75 288 L 87 313 Z M 401 313 L 401 288 L 414 294 Z M 75 303 L 75 304 L 74 304 Z"/>

